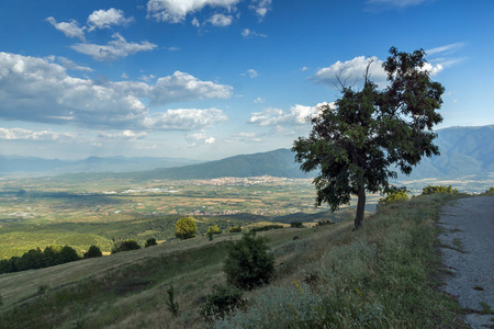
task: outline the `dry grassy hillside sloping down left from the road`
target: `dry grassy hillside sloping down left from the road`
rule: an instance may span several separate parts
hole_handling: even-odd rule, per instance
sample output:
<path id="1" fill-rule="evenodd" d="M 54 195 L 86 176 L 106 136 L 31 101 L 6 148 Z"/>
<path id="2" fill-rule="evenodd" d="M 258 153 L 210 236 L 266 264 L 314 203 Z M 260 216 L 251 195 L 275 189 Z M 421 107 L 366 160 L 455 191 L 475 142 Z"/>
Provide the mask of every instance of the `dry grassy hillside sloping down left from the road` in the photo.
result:
<path id="1" fill-rule="evenodd" d="M 363 229 L 349 220 L 266 231 L 276 279 L 246 293 L 248 303 L 218 328 L 463 328 L 437 287 L 435 219 L 451 196 L 382 207 Z M 295 236 L 299 239 L 293 239 Z M 224 234 L 0 275 L 1 328 L 193 328 L 222 272 Z M 446 271 L 442 271 L 445 273 Z M 178 317 L 166 307 L 173 283 Z M 210 325 L 213 325 L 210 322 Z"/>

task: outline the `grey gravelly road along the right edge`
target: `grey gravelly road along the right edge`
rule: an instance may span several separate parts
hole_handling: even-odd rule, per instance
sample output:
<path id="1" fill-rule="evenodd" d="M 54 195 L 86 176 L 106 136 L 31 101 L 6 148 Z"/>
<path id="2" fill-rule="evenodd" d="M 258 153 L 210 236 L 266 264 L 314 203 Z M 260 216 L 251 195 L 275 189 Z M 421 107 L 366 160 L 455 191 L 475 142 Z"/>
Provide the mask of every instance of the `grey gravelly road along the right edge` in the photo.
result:
<path id="1" fill-rule="evenodd" d="M 494 328 L 494 315 L 481 315 L 486 303 L 494 309 L 494 196 L 460 198 L 441 207 L 438 226 L 445 265 L 454 273 L 445 291 L 468 309 L 472 328 Z"/>

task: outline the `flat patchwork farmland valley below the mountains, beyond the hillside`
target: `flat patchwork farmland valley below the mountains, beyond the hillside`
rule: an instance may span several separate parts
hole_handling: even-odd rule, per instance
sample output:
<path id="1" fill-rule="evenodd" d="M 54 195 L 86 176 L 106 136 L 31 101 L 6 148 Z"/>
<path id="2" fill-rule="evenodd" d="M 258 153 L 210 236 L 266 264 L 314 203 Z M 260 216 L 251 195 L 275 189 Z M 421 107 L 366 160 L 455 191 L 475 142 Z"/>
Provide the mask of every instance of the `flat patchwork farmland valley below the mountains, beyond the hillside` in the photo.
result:
<path id="1" fill-rule="evenodd" d="M 91 245 L 109 252 L 120 239 L 175 238 L 175 223 L 193 216 L 199 234 L 293 220 L 338 222 L 351 207 L 332 214 L 314 207 L 311 180 L 222 178 L 169 181 L 100 180 L 86 183 L 55 178 L 0 181 L 0 258 L 30 249 L 68 245 L 82 252 Z M 369 208 L 379 195 L 368 197 Z"/>

